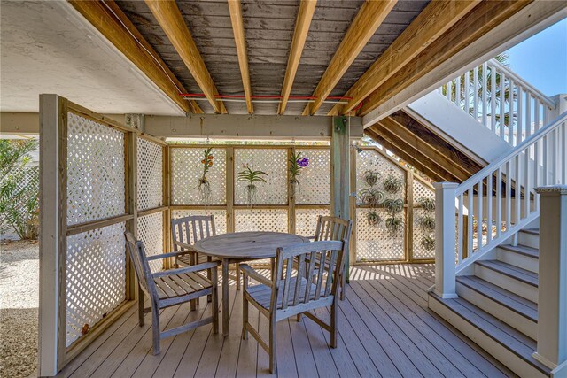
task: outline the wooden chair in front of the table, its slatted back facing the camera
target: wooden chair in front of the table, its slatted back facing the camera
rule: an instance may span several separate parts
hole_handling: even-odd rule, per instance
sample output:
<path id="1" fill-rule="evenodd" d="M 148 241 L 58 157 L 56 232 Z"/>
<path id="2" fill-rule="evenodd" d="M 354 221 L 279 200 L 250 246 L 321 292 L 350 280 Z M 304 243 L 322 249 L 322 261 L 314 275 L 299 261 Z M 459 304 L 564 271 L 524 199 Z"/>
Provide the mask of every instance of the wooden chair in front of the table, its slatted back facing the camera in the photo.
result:
<path id="1" fill-rule="evenodd" d="M 330 332 L 330 346 L 337 347 L 337 290 L 342 266 L 344 266 L 346 241 L 300 243 L 278 248 L 272 279 L 264 277 L 247 264 L 240 264 L 244 278 L 242 338 L 248 332 L 268 352 L 269 370 L 276 373 L 276 323 L 293 315 L 305 314 Z M 293 261 L 299 261 L 299 269 L 292 269 Z M 307 260 L 309 262 L 307 262 Z M 316 269 L 316 262 L 322 268 Z M 296 273 L 297 274 L 294 274 Z M 248 278 L 260 282 L 249 287 Z M 248 322 L 248 303 L 258 308 L 269 320 L 269 340 L 263 341 L 259 332 Z M 315 308 L 330 306 L 330 324 L 324 323 L 313 313 Z"/>

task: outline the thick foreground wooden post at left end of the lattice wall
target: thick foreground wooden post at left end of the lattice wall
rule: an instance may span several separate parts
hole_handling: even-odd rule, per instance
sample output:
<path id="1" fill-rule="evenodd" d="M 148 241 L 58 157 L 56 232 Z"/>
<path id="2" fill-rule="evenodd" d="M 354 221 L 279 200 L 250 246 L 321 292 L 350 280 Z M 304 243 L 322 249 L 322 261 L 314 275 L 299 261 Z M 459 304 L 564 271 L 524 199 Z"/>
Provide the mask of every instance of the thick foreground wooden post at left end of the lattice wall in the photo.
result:
<path id="1" fill-rule="evenodd" d="M 40 95 L 39 375 L 63 364 L 66 340 L 67 100 Z"/>

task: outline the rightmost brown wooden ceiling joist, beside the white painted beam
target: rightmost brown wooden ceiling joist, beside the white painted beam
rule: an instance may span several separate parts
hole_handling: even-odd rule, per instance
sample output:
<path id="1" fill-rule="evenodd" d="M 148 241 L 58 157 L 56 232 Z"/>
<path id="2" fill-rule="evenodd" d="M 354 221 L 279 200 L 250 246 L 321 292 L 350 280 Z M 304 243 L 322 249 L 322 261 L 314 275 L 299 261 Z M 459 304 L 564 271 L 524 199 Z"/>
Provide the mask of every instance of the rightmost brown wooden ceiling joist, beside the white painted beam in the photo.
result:
<path id="1" fill-rule="evenodd" d="M 364 101 L 360 114 L 365 115 L 395 96 L 411 83 L 430 73 L 455 54 L 478 40 L 493 27 L 501 25 L 532 1 L 484 1 L 472 9 L 460 22 L 432 42 L 408 65 L 384 81 Z"/>

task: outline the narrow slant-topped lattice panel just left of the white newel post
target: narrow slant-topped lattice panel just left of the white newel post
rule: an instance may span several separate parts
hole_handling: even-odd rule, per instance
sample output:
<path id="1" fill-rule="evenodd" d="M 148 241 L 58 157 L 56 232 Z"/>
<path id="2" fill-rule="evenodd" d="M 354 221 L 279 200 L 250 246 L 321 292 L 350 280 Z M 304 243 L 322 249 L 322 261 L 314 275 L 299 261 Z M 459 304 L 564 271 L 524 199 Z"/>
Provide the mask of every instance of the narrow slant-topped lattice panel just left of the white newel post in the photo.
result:
<path id="1" fill-rule="evenodd" d="M 421 198 L 431 198 L 435 199 L 435 192 L 429 187 L 425 186 L 421 181 L 414 180 L 414 201 L 418 204 Z M 430 217 L 435 219 L 435 212 L 426 212 L 420 207 L 413 209 L 414 212 L 414 228 L 413 228 L 413 243 L 414 243 L 414 258 L 435 258 L 435 249 L 431 249 L 431 246 L 423 243 L 423 239 L 430 237 L 434 240 L 435 231 L 429 230 L 422 226 L 422 220 L 424 217 Z"/>

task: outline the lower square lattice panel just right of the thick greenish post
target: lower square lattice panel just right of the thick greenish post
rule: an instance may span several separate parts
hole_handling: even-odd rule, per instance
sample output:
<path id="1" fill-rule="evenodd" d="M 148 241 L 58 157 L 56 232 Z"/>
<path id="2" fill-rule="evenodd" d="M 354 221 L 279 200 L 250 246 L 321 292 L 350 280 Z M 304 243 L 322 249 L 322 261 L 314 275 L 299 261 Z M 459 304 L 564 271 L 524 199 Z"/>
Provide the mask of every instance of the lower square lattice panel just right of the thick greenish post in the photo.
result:
<path id="1" fill-rule="evenodd" d="M 395 235 L 390 235 L 385 227 L 388 214 L 384 209 L 378 209 L 382 219 L 378 226 L 370 226 L 366 218 L 369 209 L 356 209 L 356 260 L 380 261 L 402 260 L 405 257 L 404 213 L 400 212 L 402 224 Z"/>

